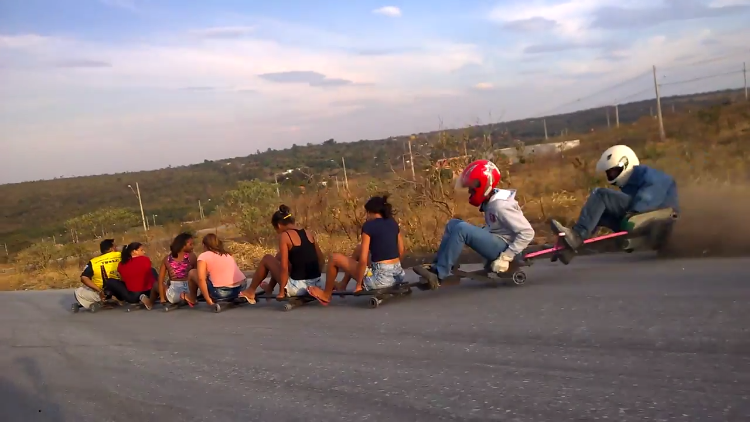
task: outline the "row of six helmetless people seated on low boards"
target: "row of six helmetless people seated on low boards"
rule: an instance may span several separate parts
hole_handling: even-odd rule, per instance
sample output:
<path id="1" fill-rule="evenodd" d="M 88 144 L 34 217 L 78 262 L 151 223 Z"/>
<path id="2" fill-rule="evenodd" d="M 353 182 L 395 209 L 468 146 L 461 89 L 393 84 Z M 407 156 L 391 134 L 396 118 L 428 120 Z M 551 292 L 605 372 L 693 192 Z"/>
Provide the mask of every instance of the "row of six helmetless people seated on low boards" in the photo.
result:
<path id="1" fill-rule="evenodd" d="M 193 252 L 192 235 L 182 233 L 175 237 L 159 271 L 153 268 L 143 244 L 133 242 L 118 252 L 114 239 L 105 239 L 99 245 L 102 254 L 89 261 L 81 274 L 83 286 L 75 291 L 76 301 L 86 309 L 108 297 L 120 303 L 140 302 L 147 309 L 157 300 L 193 307 L 201 295 L 208 305 L 240 297 L 255 304 L 259 287 L 270 297 L 278 285 L 277 298 L 310 294 L 327 305 L 333 291 L 345 290 L 352 278 L 357 280 L 356 292 L 402 282 L 406 276 L 401 267 L 404 242 L 388 197 L 370 198 L 365 210 L 368 221 L 362 227 L 361 244 L 351 257 L 332 254 L 326 268 L 315 235 L 296 224 L 289 207 L 280 206 L 271 216 L 278 233 L 278 253 L 261 259 L 249 285 L 234 257 L 213 233 L 203 237 L 203 252 L 198 256 Z M 372 262 L 368 266 L 369 260 Z M 340 270 L 345 278 L 337 283 Z M 263 283 L 268 275 L 270 282 Z"/>

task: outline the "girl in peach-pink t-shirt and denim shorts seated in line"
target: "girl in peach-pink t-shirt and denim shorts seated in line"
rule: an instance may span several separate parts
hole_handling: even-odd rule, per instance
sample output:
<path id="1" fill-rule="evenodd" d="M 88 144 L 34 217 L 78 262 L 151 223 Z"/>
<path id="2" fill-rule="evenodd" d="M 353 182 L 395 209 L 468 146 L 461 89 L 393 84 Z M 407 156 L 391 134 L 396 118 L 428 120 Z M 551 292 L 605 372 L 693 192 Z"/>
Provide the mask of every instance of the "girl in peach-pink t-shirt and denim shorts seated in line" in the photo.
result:
<path id="1" fill-rule="evenodd" d="M 195 306 L 198 289 L 209 306 L 215 300 L 236 299 L 247 283 L 234 257 L 224 249 L 224 242 L 209 233 L 203 237 L 203 250 L 198 255 L 197 270 L 188 273 L 188 291 L 182 292 L 180 299 Z"/>

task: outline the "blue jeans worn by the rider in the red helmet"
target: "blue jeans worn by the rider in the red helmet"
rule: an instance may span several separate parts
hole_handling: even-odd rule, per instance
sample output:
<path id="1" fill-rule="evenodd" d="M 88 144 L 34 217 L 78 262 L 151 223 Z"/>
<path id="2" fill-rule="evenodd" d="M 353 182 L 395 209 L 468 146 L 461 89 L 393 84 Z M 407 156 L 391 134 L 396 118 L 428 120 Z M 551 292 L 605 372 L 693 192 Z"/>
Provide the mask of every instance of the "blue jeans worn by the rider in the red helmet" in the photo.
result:
<path id="1" fill-rule="evenodd" d="M 464 245 L 488 261 L 496 260 L 508 248 L 508 244 L 499 236 L 454 218 L 445 225 L 443 239 L 435 258 L 438 279 L 443 280 L 451 274 L 451 268 L 461 256 Z"/>

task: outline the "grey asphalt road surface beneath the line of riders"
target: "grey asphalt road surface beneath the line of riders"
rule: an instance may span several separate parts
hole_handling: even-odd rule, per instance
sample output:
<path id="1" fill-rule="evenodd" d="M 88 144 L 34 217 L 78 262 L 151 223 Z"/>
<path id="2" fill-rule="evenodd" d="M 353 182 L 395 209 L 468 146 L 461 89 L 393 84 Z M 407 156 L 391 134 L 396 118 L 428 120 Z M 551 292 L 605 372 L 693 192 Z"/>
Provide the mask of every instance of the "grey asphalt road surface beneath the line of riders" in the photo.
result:
<path id="1" fill-rule="evenodd" d="M 748 421 L 748 266 L 542 262 L 523 287 L 374 310 L 72 314 L 70 291 L 4 293 L 0 420 Z"/>

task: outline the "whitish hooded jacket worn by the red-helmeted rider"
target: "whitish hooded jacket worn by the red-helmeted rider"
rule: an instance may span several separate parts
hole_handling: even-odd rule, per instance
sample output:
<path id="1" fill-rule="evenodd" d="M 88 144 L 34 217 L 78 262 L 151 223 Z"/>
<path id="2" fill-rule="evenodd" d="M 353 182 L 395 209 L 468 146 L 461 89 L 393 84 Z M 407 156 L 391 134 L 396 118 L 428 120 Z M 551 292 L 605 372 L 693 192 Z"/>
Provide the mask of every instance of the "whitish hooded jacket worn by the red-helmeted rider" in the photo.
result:
<path id="1" fill-rule="evenodd" d="M 534 229 L 516 201 L 516 190 L 495 189 L 492 197 L 479 207 L 484 213 L 485 230 L 507 244 L 507 252 L 517 255 L 534 240 Z"/>

